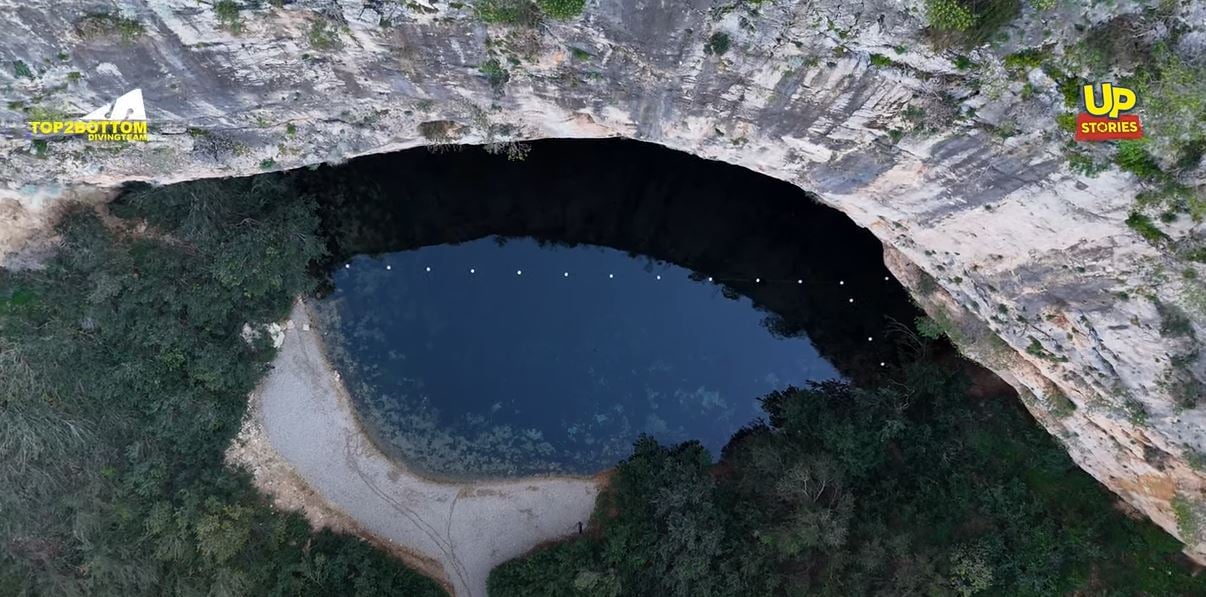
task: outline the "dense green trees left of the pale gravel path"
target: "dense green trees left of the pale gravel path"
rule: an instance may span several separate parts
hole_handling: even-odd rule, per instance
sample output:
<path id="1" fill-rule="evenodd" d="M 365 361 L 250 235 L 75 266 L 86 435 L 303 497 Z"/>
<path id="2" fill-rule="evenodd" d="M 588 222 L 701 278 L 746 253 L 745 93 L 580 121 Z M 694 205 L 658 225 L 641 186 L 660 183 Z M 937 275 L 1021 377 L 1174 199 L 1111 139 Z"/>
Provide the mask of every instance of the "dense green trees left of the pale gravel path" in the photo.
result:
<path id="1" fill-rule="evenodd" d="M 276 176 L 144 189 L 0 271 L 0 595 L 444 593 L 223 466 L 273 353 L 240 329 L 310 289 L 314 209 Z"/>

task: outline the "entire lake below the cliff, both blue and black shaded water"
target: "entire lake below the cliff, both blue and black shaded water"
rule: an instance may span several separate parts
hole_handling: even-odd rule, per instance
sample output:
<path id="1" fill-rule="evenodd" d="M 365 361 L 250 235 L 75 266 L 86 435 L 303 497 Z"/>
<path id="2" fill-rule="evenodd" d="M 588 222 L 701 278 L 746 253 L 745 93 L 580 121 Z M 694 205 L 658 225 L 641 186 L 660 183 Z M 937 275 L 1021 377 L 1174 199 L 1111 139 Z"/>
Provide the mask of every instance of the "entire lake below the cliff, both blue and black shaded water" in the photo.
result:
<path id="1" fill-rule="evenodd" d="M 719 455 L 761 396 L 890 369 L 890 322 L 914 312 L 844 216 L 652 146 L 303 176 L 334 250 L 335 365 L 379 446 L 437 476 L 592 474 L 640 434 Z"/>

